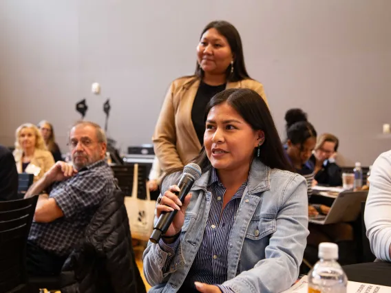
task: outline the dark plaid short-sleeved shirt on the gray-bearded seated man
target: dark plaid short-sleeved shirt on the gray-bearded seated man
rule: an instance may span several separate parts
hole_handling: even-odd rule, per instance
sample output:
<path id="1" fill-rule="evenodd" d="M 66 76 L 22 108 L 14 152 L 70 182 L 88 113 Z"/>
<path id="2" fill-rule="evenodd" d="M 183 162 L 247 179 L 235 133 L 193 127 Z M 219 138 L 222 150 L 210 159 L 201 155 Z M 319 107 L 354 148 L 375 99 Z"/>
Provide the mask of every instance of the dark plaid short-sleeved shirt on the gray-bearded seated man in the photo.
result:
<path id="1" fill-rule="evenodd" d="M 33 221 L 28 240 L 56 255 L 70 254 L 99 204 L 112 195 L 114 188 L 112 169 L 103 160 L 54 183 L 49 197 L 54 198 L 64 216 L 50 223 Z"/>

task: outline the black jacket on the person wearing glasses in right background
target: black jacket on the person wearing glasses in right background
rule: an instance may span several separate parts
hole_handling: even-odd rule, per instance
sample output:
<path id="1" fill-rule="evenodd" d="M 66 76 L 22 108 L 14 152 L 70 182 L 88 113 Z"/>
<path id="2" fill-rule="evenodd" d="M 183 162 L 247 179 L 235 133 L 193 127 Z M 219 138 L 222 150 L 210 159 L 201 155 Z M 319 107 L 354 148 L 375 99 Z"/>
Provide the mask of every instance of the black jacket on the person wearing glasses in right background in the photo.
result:
<path id="1" fill-rule="evenodd" d="M 311 155 L 310 161 L 316 166 L 315 155 Z M 314 179 L 319 185 L 342 186 L 342 169 L 337 164 L 326 160 L 321 169 L 315 174 Z"/>

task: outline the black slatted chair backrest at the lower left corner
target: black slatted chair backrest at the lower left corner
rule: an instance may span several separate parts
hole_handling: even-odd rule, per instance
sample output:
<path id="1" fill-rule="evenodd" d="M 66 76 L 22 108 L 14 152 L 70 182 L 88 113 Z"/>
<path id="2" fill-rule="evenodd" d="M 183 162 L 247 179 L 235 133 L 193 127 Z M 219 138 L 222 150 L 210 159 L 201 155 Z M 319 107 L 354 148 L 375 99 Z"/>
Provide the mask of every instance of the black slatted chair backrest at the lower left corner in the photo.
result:
<path id="1" fill-rule="evenodd" d="M 37 199 L 0 202 L 0 292 L 27 283 L 25 249 Z"/>

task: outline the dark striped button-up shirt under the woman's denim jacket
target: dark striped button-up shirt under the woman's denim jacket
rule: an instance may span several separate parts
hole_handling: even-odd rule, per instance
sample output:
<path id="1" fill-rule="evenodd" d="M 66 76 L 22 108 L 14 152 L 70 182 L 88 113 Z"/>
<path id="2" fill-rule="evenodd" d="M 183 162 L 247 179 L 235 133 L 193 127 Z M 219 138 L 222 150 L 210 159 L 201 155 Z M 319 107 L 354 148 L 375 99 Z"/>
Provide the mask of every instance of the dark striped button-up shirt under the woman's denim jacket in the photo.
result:
<path id="1" fill-rule="evenodd" d="M 226 204 L 224 210 L 222 210 L 226 188 L 220 182 L 215 169 L 212 169 L 207 187 L 212 195 L 211 210 L 209 211 L 207 226 L 204 230 L 201 246 L 195 255 L 189 274 L 187 274 L 187 277 L 184 280 L 183 287 L 195 290 L 194 282 L 197 281 L 218 285 L 223 293 L 233 292 L 231 288 L 220 284 L 227 281 L 229 236 L 246 186 L 247 182 L 244 182 L 231 200 Z M 178 238 L 174 243 L 167 245 L 164 241 L 160 240 L 160 248 L 166 252 L 171 252 L 171 256 L 167 257 L 166 265 L 163 270 L 167 271 L 169 268 L 169 263 L 173 258 L 176 248 L 179 246 L 179 242 L 180 239 Z M 182 291 L 180 290 L 180 292 Z"/>

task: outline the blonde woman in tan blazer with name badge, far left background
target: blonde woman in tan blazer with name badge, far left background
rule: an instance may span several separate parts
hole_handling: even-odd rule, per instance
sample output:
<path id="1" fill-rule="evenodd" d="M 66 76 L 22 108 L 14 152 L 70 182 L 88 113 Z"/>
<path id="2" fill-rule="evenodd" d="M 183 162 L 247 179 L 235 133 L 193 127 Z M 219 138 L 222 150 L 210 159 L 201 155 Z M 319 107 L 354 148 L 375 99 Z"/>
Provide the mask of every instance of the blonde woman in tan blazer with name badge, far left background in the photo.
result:
<path id="1" fill-rule="evenodd" d="M 54 165 L 53 155 L 47 151 L 41 132 L 34 124 L 21 124 L 15 136 L 14 158 L 18 173 L 34 174 L 36 182 Z"/>

